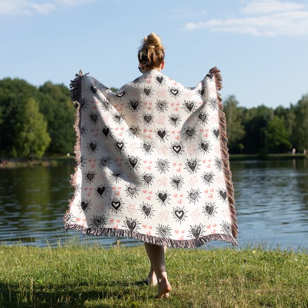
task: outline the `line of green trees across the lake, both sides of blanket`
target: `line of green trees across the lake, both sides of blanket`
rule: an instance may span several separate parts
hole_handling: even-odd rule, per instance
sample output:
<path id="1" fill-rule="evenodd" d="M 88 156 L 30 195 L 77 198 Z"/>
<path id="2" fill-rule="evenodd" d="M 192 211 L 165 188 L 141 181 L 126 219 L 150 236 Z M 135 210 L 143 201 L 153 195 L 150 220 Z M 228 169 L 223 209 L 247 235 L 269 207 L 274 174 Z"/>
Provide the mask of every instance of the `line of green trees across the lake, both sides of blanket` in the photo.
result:
<path id="1" fill-rule="evenodd" d="M 117 91 L 117 88 L 110 88 Z M 75 108 L 64 84 L 36 87 L 18 78 L 0 80 L 0 155 L 31 157 L 73 153 Z M 239 106 L 223 100 L 229 153 L 285 153 L 308 149 L 308 93 L 290 107 Z"/>

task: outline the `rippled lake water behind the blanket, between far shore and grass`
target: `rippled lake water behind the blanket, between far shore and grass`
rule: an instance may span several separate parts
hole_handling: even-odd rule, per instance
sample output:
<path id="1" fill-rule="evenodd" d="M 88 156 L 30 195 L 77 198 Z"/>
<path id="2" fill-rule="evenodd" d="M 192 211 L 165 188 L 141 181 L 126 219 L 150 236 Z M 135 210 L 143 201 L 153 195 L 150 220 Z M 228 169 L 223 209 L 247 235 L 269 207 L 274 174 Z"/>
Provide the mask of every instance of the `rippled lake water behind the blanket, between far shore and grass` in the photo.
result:
<path id="1" fill-rule="evenodd" d="M 240 248 L 262 242 L 265 249 L 308 248 L 307 160 L 230 161 L 235 189 Z M 4 244 L 57 246 L 79 243 L 106 248 L 117 238 L 66 232 L 62 216 L 72 197 L 69 184 L 73 165 L 1 169 L 0 241 Z M 125 245 L 140 245 L 120 238 Z M 211 241 L 199 247 L 213 249 L 232 244 Z"/>

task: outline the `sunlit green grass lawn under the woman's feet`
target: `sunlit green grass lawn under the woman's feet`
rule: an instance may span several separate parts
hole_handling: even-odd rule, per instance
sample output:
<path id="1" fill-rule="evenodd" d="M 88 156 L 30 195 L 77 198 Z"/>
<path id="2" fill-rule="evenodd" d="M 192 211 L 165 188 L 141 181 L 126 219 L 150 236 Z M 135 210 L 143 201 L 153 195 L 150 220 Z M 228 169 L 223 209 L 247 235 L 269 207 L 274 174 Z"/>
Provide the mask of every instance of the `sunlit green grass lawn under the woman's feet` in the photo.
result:
<path id="1" fill-rule="evenodd" d="M 2 245 L 0 306 L 308 307 L 306 248 L 167 248 L 165 260 L 172 290 L 158 300 L 157 287 L 142 282 L 143 245 Z"/>

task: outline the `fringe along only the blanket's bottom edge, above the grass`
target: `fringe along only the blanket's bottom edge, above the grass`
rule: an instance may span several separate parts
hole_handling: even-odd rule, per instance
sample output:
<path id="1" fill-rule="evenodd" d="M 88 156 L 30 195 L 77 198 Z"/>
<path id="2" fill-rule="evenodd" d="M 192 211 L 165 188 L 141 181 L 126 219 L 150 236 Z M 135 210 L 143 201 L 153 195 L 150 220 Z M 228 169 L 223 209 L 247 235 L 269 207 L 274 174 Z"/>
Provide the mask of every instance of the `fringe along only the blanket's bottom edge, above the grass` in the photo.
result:
<path id="1" fill-rule="evenodd" d="M 213 240 L 230 242 L 233 243 L 233 246 L 234 244 L 238 245 L 234 237 L 228 234 L 209 234 L 201 236 L 198 239 L 174 240 L 174 239 L 161 238 L 157 236 L 142 234 L 139 232 L 133 232 L 125 229 L 117 229 L 117 228 L 105 228 L 105 227 L 87 228 L 82 225 L 69 224 L 69 223 L 66 223 L 64 225 L 64 228 L 67 230 L 74 229 L 81 231 L 84 235 L 102 236 L 102 237 L 126 237 L 129 239 L 132 238 L 140 240 L 149 244 L 163 245 L 171 248 L 198 248 L 204 245 L 206 242 Z"/>

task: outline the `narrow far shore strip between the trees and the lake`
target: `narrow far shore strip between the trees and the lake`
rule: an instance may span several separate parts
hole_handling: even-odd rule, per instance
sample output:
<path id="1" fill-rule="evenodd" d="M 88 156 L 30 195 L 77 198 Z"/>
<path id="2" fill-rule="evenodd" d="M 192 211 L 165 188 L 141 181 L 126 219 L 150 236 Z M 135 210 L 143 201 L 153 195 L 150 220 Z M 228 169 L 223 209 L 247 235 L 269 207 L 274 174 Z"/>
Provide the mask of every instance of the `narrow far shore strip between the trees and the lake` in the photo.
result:
<path id="1" fill-rule="evenodd" d="M 257 154 L 230 154 L 229 160 L 273 160 L 273 159 L 308 159 L 308 155 L 303 153 L 298 154 L 268 154 L 260 156 Z M 48 156 L 41 159 L 34 159 L 33 161 L 28 158 L 2 158 L 0 160 L 0 168 L 12 167 L 31 167 L 31 166 L 59 166 L 75 164 L 74 156 Z"/>

